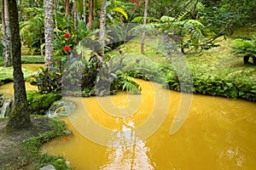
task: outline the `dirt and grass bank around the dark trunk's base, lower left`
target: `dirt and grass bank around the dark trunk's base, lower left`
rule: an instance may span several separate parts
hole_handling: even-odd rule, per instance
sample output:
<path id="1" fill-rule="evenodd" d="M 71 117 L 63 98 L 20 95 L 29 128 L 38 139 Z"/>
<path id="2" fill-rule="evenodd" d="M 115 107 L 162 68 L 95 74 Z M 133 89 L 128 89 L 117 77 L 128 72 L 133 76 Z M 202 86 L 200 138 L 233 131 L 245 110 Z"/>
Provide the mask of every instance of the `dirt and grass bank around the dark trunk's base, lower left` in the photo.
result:
<path id="1" fill-rule="evenodd" d="M 65 122 L 43 116 L 32 116 L 32 127 L 12 133 L 5 131 L 7 120 L 0 120 L 0 169 L 34 170 L 46 165 L 72 169 L 60 156 L 41 155 L 39 147 L 51 139 L 70 134 Z"/>

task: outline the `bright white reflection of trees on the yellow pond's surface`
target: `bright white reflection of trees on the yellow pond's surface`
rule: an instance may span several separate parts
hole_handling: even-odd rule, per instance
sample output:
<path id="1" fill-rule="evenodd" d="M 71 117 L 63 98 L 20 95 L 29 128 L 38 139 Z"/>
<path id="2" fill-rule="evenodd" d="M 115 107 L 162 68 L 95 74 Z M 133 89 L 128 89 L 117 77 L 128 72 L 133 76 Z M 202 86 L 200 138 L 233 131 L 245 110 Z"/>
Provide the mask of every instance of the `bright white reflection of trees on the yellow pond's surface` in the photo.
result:
<path id="1" fill-rule="evenodd" d="M 113 132 L 113 144 L 108 147 L 106 156 L 108 164 L 101 167 L 102 170 L 112 169 L 154 169 L 147 156 L 149 148 L 143 140 L 135 135 L 134 122 L 125 123 L 121 131 Z M 131 142 L 133 141 L 133 142 Z"/>

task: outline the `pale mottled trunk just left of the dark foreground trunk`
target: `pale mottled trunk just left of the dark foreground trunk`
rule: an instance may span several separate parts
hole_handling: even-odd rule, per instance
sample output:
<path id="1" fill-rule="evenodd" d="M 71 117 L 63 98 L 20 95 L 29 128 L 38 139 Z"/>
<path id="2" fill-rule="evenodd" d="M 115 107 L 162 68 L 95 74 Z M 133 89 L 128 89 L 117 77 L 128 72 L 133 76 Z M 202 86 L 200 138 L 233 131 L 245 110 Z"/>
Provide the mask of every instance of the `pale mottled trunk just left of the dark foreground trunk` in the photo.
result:
<path id="1" fill-rule="evenodd" d="M 8 11 L 8 0 L 3 0 L 3 11 L 2 11 L 2 29 L 3 29 L 3 45 L 4 45 L 4 66 L 12 66 L 12 46 L 10 40 L 10 27 L 9 27 L 9 11 Z"/>

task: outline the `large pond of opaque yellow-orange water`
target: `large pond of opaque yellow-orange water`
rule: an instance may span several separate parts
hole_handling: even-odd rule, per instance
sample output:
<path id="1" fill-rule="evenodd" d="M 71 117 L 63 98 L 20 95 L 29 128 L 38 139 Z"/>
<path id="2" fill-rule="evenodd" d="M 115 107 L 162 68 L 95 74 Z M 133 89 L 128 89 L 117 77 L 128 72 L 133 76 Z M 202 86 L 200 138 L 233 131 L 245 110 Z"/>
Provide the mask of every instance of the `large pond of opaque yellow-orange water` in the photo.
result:
<path id="1" fill-rule="evenodd" d="M 255 103 L 193 95 L 190 105 L 188 96 L 138 82 L 142 95 L 66 98 L 77 105 L 62 118 L 73 135 L 44 144 L 42 152 L 65 156 L 81 170 L 256 167 Z M 183 106 L 189 107 L 179 115 L 185 122 L 175 124 Z"/>

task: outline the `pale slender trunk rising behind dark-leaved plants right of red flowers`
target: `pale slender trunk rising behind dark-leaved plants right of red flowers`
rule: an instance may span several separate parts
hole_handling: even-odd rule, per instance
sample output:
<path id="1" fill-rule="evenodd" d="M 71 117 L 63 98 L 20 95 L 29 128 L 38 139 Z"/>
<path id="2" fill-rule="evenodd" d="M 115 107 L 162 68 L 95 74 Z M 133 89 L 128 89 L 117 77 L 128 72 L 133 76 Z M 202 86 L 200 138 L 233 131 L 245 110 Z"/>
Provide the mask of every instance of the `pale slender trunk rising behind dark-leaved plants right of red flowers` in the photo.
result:
<path id="1" fill-rule="evenodd" d="M 101 42 L 100 54 L 102 54 L 102 59 L 104 59 L 104 47 L 105 47 L 105 30 L 106 30 L 106 0 L 102 0 L 101 16 L 100 16 L 100 36 L 99 40 Z"/>

